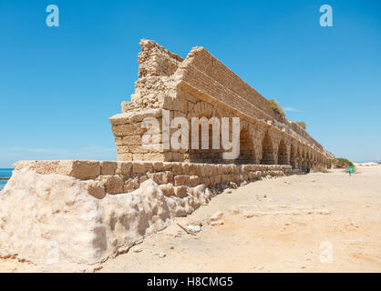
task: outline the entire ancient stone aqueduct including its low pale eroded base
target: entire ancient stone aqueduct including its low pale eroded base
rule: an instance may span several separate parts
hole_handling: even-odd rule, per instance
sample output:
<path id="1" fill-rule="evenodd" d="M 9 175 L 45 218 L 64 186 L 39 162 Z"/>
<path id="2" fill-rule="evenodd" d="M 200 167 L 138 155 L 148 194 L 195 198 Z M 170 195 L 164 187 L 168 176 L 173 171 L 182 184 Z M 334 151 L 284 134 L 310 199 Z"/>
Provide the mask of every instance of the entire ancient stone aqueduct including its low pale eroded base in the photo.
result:
<path id="1" fill-rule="evenodd" d="M 187 216 L 227 187 L 326 166 L 323 146 L 203 47 L 185 59 L 142 40 L 131 102 L 110 117 L 118 161 L 19 161 L 0 191 L 0 257 L 98 264 Z M 240 155 L 148 149 L 145 117 L 240 117 Z M 162 125 L 162 124 L 161 124 Z M 160 128 L 167 128 L 161 126 Z M 176 128 L 170 131 L 177 131 Z M 164 142 L 171 133 L 159 131 Z M 166 137 L 167 136 L 167 137 Z M 211 139 L 210 139 L 211 142 Z"/>

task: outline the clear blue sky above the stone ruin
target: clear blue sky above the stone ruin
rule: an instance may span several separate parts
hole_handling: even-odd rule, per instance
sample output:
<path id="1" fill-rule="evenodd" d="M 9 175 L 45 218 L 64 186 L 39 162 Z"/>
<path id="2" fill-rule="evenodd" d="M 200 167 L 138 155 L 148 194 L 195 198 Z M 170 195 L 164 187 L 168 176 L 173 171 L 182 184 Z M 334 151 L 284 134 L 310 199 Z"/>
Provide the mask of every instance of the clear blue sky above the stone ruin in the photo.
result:
<path id="1" fill-rule="evenodd" d="M 0 167 L 116 159 L 108 117 L 134 92 L 140 38 L 183 57 L 204 46 L 335 156 L 381 156 L 379 0 L 0 0 Z"/>

